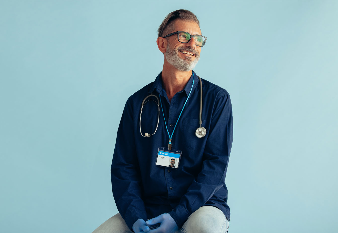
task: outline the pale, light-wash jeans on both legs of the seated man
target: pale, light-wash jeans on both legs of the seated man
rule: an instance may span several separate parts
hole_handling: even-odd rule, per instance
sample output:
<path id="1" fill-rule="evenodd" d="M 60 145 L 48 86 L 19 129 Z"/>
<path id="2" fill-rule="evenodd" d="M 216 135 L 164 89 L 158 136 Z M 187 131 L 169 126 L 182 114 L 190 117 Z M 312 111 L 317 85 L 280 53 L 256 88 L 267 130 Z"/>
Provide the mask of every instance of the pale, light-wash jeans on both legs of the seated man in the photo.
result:
<path id="1" fill-rule="evenodd" d="M 176 233 L 226 233 L 229 221 L 214 206 L 202 206 L 193 212 Z M 132 233 L 120 213 L 102 223 L 93 233 Z"/>

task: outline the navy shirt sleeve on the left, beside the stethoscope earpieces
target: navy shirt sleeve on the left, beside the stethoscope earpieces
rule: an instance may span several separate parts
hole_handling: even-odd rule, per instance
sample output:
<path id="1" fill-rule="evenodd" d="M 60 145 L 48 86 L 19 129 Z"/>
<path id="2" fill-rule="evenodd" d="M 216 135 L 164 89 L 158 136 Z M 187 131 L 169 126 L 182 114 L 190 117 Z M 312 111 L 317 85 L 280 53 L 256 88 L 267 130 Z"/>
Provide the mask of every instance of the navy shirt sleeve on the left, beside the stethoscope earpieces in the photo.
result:
<path id="1" fill-rule="evenodd" d="M 124 107 L 111 167 L 112 190 L 122 218 L 132 231 L 138 220 L 147 221 L 144 202 L 141 199 L 139 163 L 134 141 L 132 103 L 130 98 Z"/>

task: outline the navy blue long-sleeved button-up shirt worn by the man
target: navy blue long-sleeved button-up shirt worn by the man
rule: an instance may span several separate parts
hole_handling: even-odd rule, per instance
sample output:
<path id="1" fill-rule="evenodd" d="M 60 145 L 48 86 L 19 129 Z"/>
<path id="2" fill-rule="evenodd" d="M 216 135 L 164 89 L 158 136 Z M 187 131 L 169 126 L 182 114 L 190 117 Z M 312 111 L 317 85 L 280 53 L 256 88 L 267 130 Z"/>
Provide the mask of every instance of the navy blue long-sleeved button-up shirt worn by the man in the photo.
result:
<path id="1" fill-rule="evenodd" d="M 202 79 L 203 138 L 199 127 L 200 84 L 197 75 L 169 101 L 162 85 L 162 72 L 155 81 L 130 96 L 117 132 L 111 167 L 113 196 L 118 211 L 130 229 L 138 219 L 169 213 L 180 228 L 190 214 L 204 205 L 219 208 L 230 219 L 224 183 L 233 141 L 232 106 L 229 93 Z M 194 82 L 193 82 L 194 79 Z M 178 169 L 155 165 L 159 147 L 168 147 L 177 118 L 192 91 L 172 136 L 172 148 L 182 150 Z M 156 133 L 142 137 L 139 128 L 141 104 L 150 93 L 161 97 L 160 121 Z M 156 100 L 152 97 L 151 99 Z M 142 110 L 142 133 L 152 134 L 158 120 L 158 106 L 148 101 Z M 175 164 L 177 167 L 177 164 Z"/>

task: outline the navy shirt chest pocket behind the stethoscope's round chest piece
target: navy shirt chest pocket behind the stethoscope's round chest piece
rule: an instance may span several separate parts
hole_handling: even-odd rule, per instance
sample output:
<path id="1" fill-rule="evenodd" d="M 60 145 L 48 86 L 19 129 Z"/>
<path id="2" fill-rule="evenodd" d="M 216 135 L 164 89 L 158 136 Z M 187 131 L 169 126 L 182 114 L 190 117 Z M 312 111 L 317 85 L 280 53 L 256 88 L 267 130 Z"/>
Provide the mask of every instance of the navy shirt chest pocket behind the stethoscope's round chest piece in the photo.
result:
<path id="1" fill-rule="evenodd" d="M 206 120 L 202 120 L 202 127 L 206 125 Z M 198 150 L 204 148 L 207 137 L 208 137 L 208 130 L 207 135 L 203 138 L 197 138 L 195 135 L 196 129 L 199 127 L 199 120 L 198 119 L 191 119 L 191 118 L 184 118 L 182 121 L 183 126 L 183 144 L 189 147 L 192 150 Z"/>

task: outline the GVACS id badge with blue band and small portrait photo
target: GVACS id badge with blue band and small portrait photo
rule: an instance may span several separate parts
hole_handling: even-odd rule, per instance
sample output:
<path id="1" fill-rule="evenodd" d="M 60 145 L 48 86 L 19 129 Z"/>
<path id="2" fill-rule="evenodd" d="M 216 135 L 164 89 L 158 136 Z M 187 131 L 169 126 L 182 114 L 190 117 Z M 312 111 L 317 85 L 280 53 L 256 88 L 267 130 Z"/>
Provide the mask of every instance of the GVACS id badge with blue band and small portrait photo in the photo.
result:
<path id="1" fill-rule="evenodd" d="M 176 149 L 168 150 L 168 148 L 166 147 L 159 147 L 156 158 L 156 166 L 178 169 L 181 155 L 182 151 L 180 150 Z"/>

